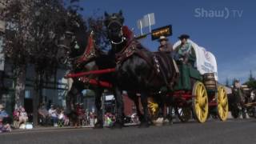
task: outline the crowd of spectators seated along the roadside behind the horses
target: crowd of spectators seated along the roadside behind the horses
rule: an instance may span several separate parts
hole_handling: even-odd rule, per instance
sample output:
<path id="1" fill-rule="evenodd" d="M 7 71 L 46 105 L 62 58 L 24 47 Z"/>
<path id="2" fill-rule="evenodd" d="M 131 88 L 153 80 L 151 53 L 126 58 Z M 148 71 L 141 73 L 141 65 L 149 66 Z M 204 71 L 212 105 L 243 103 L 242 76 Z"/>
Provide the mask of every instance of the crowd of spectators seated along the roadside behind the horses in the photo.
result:
<path id="1" fill-rule="evenodd" d="M 94 123 L 97 122 L 94 112 L 86 111 L 82 104 L 76 105 L 75 114 L 78 117 L 78 125 L 76 126 L 94 126 Z M 112 126 L 115 122 L 114 114 L 111 113 L 106 113 L 104 119 L 106 126 Z M 29 122 L 24 107 L 19 106 L 10 115 L 7 114 L 5 106 L 0 104 L 0 133 L 11 131 L 12 128 L 28 129 L 28 125 L 33 128 L 32 124 L 32 122 Z M 44 103 L 38 106 L 38 124 L 41 126 L 74 126 L 74 122 L 67 116 L 61 106 L 50 105 L 50 109 L 47 110 Z"/>

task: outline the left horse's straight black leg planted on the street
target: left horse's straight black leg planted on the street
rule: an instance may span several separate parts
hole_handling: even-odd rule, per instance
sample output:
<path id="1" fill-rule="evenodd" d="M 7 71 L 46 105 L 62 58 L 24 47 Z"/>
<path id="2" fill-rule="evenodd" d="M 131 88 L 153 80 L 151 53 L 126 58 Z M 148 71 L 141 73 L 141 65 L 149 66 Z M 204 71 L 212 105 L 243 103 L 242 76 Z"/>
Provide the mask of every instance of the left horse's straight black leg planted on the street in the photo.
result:
<path id="1" fill-rule="evenodd" d="M 103 119 L 102 119 L 102 92 L 103 89 L 98 88 L 95 91 L 95 106 L 96 106 L 96 114 L 97 114 L 97 122 L 94 125 L 94 128 L 100 129 L 103 128 Z"/>

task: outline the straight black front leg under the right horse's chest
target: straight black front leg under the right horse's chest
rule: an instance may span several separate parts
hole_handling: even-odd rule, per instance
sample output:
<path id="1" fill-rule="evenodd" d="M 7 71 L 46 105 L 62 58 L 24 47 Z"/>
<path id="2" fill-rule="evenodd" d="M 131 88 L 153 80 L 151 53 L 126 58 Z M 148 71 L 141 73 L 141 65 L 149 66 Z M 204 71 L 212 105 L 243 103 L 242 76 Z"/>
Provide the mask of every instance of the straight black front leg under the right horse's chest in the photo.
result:
<path id="1" fill-rule="evenodd" d="M 122 128 L 123 126 L 123 100 L 122 100 L 122 90 L 120 90 L 118 87 L 114 88 L 114 98 L 116 101 L 116 122 L 114 122 L 113 128 Z"/>

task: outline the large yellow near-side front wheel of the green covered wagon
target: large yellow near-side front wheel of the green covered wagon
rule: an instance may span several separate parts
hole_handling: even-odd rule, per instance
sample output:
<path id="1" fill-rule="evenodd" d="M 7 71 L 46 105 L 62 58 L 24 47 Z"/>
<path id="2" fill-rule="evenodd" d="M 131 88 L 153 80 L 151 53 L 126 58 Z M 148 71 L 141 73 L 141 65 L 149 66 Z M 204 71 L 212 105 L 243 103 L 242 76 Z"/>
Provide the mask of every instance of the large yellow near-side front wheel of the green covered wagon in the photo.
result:
<path id="1" fill-rule="evenodd" d="M 208 117 L 208 96 L 202 82 L 195 82 L 193 86 L 192 107 L 198 122 L 206 122 Z"/>

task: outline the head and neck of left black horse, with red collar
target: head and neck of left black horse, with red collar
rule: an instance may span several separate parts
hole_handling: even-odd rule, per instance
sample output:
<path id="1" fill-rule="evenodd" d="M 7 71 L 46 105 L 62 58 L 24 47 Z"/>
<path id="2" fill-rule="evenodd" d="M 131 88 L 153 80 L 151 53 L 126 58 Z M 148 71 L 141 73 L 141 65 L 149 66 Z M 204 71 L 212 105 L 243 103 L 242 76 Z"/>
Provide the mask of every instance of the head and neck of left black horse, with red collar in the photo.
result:
<path id="1" fill-rule="evenodd" d="M 64 63 L 76 69 L 95 58 L 99 50 L 94 43 L 94 32 L 86 30 L 82 18 L 78 14 L 68 15 L 66 31 L 58 41 L 58 55 L 62 55 Z"/>

